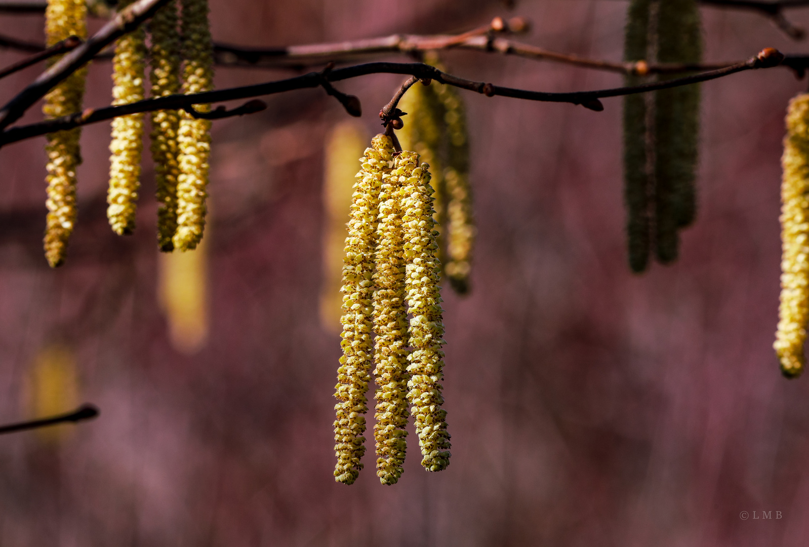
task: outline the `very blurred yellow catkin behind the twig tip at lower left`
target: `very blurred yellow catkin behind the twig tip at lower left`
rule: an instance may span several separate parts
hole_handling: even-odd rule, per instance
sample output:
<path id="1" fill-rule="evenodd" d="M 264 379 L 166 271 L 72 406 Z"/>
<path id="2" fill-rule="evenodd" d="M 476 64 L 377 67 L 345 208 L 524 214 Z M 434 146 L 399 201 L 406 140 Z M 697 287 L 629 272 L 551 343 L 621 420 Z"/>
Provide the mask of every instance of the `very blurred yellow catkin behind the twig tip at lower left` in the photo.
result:
<path id="1" fill-rule="evenodd" d="M 49 418 L 78 405 L 78 376 L 73 350 L 62 344 L 44 346 L 33 360 L 28 376 L 28 407 L 32 418 Z M 65 427 L 37 430 L 39 438 L 54 443 L 66 435 Z"/>

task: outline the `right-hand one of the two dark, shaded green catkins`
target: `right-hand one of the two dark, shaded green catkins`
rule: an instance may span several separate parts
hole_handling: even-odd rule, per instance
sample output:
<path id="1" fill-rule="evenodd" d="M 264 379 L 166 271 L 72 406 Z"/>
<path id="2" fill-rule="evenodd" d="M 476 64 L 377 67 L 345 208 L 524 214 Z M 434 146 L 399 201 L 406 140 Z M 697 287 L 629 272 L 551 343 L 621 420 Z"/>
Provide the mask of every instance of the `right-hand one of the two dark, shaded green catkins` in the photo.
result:
<path id="1" fill-rule="evenodd" d="M 702 59 L 700 11 L 697 0 L 660 0 L 659 62 L 698 63 Z M 684 74 L 672 74 L 678 78 Z M 678 233 L 693 223 L 699 136 L 700 87 L 697 84 L 654 94 L 655 244 L 658 260 L 676 260 Z"/>

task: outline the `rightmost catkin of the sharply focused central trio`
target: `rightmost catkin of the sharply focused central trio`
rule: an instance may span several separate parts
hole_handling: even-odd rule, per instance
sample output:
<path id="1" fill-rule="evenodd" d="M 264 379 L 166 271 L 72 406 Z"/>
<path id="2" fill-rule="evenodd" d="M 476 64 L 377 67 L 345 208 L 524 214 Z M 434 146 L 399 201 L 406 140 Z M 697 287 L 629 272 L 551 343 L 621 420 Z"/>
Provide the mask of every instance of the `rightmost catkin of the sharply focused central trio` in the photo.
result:
<path id="1" fill-rule="evenodd" d="M 441 408 L 443 396 L 444 325 L 440 288 L 441 265 L 435 257 L 433 189 L 429 165 L 421 163 L 415 152 L 405 151 L 393 165 L 403 180 L 405 288 L 410 320 L 409 336 L 413 352 L 409 355 L 408 401 L 421 445 L 421 460 L 428 471 L 441 471 L 449 465 L 450 435 L 447 412 Z"/>

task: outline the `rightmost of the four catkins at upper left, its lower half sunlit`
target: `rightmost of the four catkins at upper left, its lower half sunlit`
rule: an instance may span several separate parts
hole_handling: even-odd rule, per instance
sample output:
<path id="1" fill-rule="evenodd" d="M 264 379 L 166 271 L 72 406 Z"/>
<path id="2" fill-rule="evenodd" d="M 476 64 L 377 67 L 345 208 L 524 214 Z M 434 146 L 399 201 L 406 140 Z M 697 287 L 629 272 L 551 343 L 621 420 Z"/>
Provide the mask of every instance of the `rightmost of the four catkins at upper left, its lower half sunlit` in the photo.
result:
<path id="1" fill-rule="evenodd" d="M 213 46 L 208 28 L 207 0 L 182 0 L 183 92 L 210 91 L 214 84 Z M 197 104 L 200 112 L 210 112 L 210 104 Z M 174 248 L 196 248 L 205 229 L 205 198 L 208 197 L 210 120 L 198 120 L 188 112 L 180 116 L 177 142 L 180 150 L 180 176 L 177 179 L 177 231 Z"/>

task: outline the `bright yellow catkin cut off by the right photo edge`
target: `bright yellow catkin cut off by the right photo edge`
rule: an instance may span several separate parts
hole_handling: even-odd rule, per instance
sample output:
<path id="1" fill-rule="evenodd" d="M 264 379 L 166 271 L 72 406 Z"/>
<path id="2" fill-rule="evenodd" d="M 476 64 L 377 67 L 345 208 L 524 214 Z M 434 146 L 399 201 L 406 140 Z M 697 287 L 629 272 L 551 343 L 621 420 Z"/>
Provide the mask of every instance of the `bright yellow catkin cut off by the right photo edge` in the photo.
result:
<path id="1" fill-rule="evenodd" d="M 781 371 L 803 372 L 809 319 L 809 94 L 790 101 L 781 159 L 781 305 L 773 344 Z"/>

